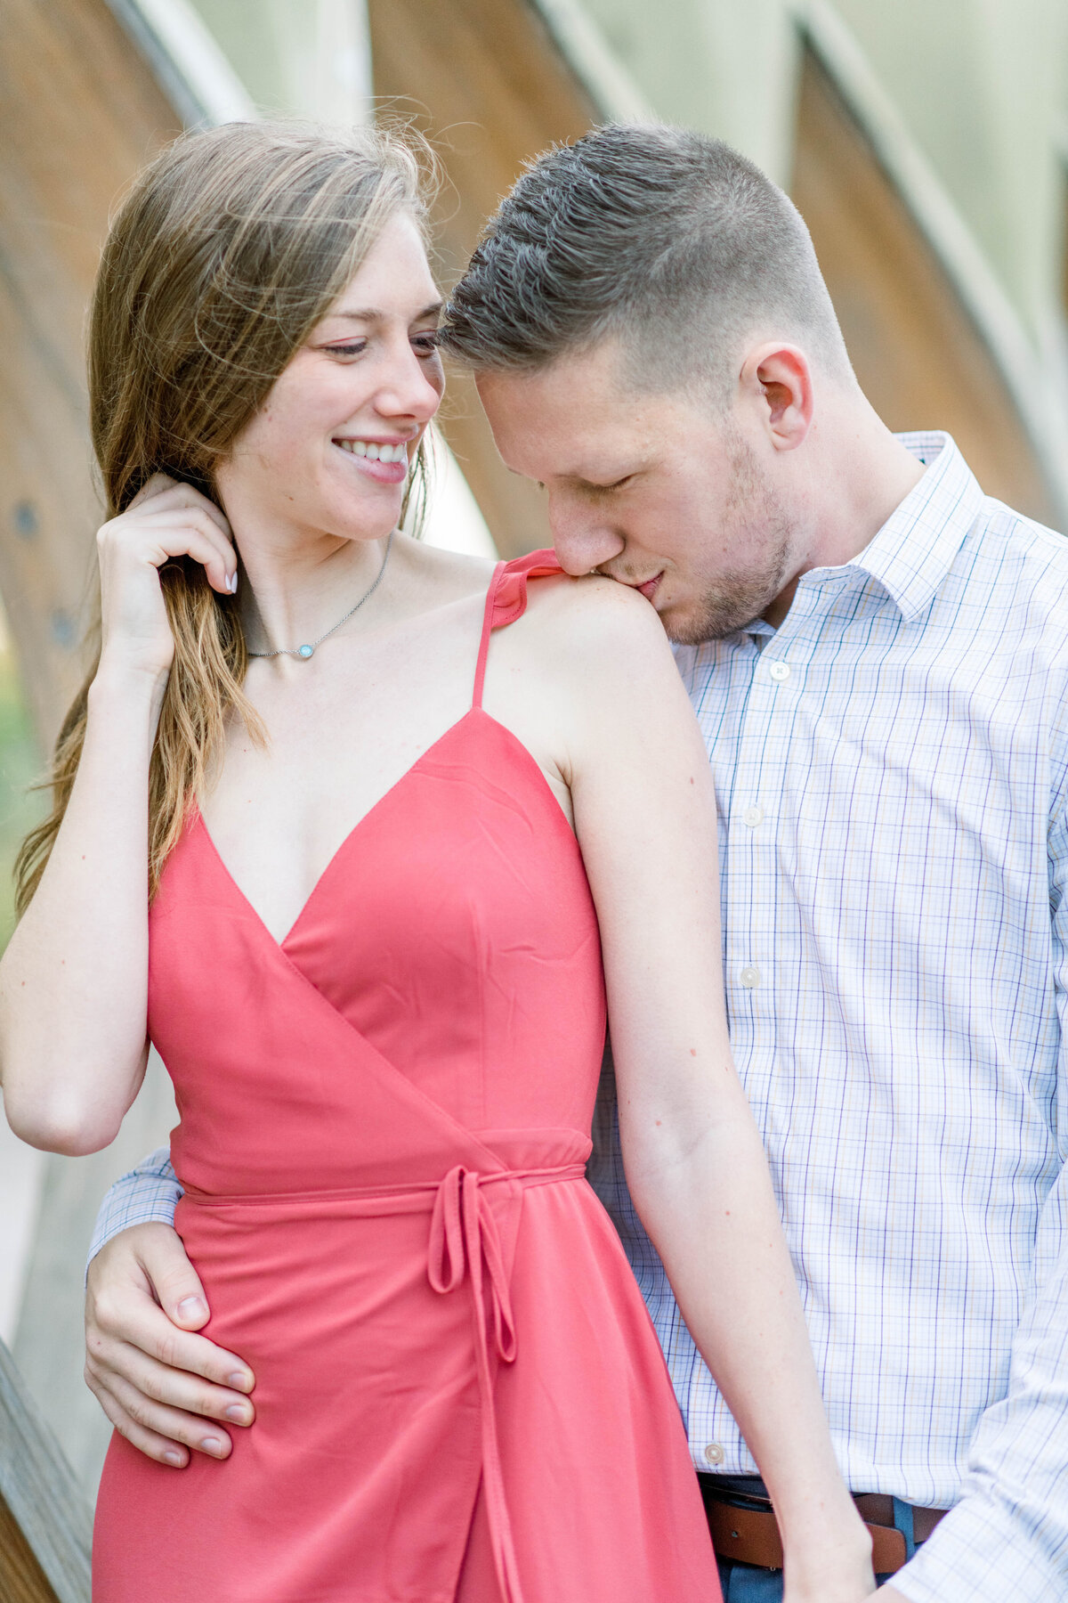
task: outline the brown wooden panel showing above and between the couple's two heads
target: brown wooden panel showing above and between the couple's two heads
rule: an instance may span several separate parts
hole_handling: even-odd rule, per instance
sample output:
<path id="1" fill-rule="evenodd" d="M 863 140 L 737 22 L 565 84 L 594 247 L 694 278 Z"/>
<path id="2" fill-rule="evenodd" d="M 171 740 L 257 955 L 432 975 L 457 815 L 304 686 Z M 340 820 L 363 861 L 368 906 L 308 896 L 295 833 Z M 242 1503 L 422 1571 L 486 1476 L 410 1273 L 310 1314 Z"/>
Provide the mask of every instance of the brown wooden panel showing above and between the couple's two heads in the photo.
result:
<path id="1" fill-rule="evenodd" d="M 370 0 L 375 93 L 434 141 L 448 184 L 436 218 L 448 287 L 524 165 L 596 120 L 584 90 L 524 0 Z M 496 454 L 474 385 L 448 375 L 448 439 L 503 556 L 549 543 L 544 502 Z"/>

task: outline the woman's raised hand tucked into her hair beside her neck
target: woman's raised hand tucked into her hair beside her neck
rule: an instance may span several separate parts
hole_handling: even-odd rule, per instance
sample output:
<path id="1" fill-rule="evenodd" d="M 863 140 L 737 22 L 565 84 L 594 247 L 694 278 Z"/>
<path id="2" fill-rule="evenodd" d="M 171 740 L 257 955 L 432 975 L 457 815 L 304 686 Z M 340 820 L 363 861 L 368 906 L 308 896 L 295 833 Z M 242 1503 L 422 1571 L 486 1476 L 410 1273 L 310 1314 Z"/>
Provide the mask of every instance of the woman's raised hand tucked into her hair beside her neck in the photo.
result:
<path id="1" fill-rule="evenodd" d="M 231 526 L 207 495 L 154 473 L 126 511 L 96 535 L 101 564 L 101 665 L 165 678 L 175 638 L 159 569 L 173 556 L 202 563 L 219 595 L 237 588 Z"/>

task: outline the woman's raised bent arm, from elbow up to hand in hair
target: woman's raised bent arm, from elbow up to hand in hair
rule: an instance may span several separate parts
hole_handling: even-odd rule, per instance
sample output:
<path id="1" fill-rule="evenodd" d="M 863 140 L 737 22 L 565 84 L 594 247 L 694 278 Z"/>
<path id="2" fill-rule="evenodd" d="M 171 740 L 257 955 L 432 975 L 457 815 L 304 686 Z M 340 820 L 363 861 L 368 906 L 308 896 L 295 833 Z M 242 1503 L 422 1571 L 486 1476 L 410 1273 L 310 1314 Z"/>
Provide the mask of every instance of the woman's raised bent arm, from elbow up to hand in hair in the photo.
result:
<path id="1" fill-rule="evenodd" d="M 0 1074 L 30 1146 L 93 1153 L 114 1140 L 147 1060 L 149 758 L 173 638 L 157 569 L 235 571 L 226 519 L 162 474 L 98 535 L 102 648 L 82 761 L 34 899 L 0 962 Z"/>

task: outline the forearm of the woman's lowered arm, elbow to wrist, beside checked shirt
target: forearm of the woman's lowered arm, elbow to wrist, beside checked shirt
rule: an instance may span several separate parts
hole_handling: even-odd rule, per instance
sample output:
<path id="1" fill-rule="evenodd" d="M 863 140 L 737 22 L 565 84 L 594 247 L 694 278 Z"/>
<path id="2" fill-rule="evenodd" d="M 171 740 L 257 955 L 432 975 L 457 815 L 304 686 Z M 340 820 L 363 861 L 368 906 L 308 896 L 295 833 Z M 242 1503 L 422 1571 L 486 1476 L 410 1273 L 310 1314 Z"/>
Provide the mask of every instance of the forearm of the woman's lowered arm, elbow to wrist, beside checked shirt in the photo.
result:
<path id="1" fill-rule="evenodd" d="M 722 1096 L 722 1087 L 719 1095 Z M 729 1093 L 730 1095 L 730 1093 Z M 738 1087 L 737 1114 L 634 1127 L 628 1181 L 682 1316 L 757 1460 L 794 1576 L 865 1532 L 841 1481 L 767 1159 Z M 666 1114 L 666 1109 L 661 1109 Z"/>

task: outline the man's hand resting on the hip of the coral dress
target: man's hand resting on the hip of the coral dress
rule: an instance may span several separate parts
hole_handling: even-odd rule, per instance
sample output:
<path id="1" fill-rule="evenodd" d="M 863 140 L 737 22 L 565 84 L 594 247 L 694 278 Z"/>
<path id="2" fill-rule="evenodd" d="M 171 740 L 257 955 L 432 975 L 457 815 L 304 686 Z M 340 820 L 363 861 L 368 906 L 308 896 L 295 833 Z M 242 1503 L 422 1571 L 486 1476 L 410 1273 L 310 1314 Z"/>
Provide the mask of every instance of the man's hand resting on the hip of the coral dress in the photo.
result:
<path id="1" fill-rule="evenodd" d="M 226 1459 L 219 1425 L 251 1425 L 253 1372 L 205 1335 L 208 1298 L 170 1225 L 133 1225 L 93 1258 L 85 1298 L 85 1382 L 149 1459 L 183 1468 L 189 1448 Z"/>

